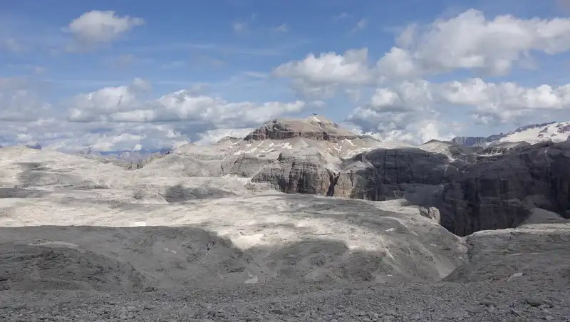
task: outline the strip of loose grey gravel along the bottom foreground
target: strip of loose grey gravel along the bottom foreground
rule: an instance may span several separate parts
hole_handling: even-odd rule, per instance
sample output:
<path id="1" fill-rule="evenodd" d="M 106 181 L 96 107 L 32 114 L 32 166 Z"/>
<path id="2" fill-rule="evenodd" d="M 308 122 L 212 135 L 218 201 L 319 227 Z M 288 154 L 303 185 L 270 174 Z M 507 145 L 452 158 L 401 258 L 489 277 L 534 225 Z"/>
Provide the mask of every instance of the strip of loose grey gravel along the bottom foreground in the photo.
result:
<path id="1" fill-rule="evenodd" d="M 242 285 L 145 293 L 0 292 L 1 321 L 570 321 L 568 284 Z"/>

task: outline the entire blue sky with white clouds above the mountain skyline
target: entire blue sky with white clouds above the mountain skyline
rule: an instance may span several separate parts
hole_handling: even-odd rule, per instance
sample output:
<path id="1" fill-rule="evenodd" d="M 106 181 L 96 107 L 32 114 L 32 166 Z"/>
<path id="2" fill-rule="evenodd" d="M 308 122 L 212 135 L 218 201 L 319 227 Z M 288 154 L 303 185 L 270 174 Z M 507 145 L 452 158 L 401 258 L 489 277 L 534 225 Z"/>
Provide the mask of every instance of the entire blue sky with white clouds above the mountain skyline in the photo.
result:
<path id="1" fill-rule="evenodd" d="M 567 0 L 0 1 L 0 145 L 147 150 L 317 113 L 382 140 L 570 120 Z"/>

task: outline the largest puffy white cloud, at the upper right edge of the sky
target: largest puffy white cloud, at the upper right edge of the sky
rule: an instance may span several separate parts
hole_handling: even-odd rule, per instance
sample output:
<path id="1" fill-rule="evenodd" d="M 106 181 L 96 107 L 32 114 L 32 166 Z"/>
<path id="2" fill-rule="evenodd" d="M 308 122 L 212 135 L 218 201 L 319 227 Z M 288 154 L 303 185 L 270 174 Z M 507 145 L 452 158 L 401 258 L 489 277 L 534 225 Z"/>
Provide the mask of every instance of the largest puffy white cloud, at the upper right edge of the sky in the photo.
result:
<path id="1" fill-rule="evenodd" d="M 378 61 L 387 77 L 415 77 L 455 69 L 505 75 L 515 64 L 525 67 L 530 53 L 549 55 L 570 50 L 570 19 L 518 19 L 511 15 L 490 20 L 470 9 L 452 19 L 427 26 L 411 25 Z"/>

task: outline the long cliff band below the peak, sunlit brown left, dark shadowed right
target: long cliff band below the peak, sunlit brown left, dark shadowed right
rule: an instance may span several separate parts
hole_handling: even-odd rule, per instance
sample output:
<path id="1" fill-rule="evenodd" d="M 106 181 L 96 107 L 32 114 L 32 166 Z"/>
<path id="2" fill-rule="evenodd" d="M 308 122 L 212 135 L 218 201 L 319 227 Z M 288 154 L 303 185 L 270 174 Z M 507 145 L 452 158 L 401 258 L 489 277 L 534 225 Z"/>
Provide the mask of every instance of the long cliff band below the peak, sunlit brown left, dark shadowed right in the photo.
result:
<path id="1" fill-rule="evenodd" d="M 570 209 L 570 146 L 566 143 L 482 156 L 472 165 L 419 148 L 364 152 L 336 171 L 323 164 L 322 157 L 282 158 L 279 171 L 271 164 L 252 181 L 270 182 L 283 192 L 368 200 L 405 198 L 437 207 L 440 224 L 460 236 L 516 227 L 534 207 L 563 215 Z"/>

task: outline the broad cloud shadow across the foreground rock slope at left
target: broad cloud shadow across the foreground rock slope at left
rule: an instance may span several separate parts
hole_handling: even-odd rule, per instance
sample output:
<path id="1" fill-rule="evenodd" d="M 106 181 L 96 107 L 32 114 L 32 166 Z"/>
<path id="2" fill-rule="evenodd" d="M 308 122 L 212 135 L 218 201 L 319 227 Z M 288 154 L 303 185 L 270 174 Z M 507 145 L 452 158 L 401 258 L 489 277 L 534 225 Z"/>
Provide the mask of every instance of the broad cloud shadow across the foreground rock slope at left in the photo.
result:
<path id="1" fill-rule="evenodd" d="M 349 249 L 343 241 L 306 239 L 239 249 L 197 227 L 3 227 L 0 259 L 0 287 L 26 291 L 406 278 L 387 252 Z"/>

